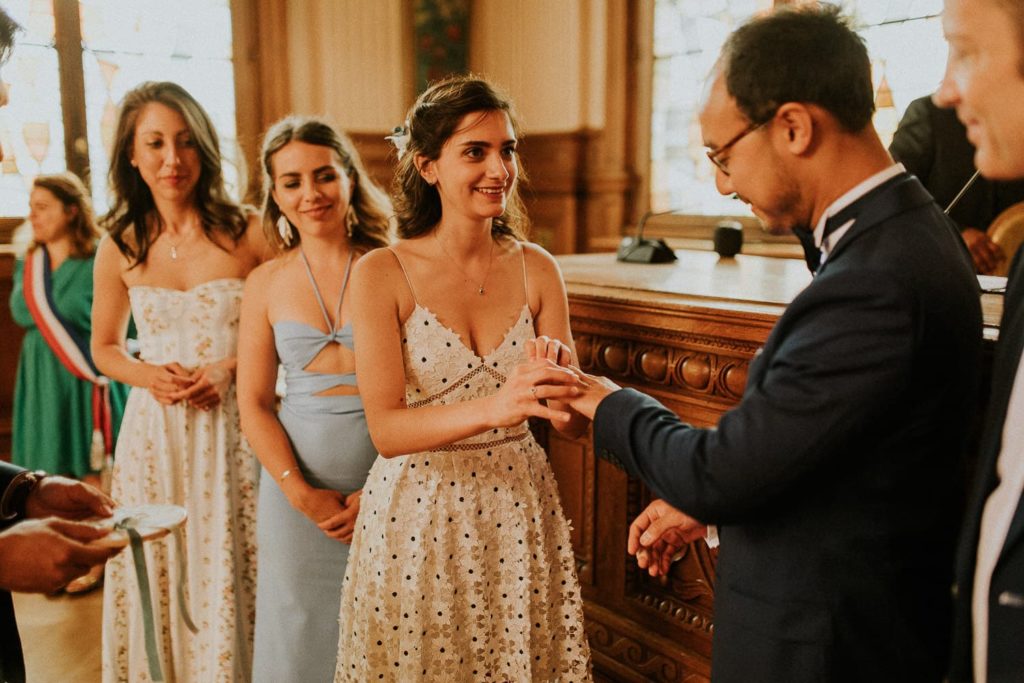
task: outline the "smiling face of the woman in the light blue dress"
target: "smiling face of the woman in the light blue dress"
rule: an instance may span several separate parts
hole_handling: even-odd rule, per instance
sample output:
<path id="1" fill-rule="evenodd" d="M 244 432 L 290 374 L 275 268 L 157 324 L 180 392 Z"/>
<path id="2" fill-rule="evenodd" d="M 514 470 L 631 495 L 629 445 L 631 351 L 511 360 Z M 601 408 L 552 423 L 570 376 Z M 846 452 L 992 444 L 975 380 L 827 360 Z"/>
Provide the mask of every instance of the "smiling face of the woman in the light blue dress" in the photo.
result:
<path id="1" fill-rule="evenodd" d="M 292 140 L 270 157 L 271 196 L 302 236 L 345 233 L 352 182 L 334 150 Z"/>

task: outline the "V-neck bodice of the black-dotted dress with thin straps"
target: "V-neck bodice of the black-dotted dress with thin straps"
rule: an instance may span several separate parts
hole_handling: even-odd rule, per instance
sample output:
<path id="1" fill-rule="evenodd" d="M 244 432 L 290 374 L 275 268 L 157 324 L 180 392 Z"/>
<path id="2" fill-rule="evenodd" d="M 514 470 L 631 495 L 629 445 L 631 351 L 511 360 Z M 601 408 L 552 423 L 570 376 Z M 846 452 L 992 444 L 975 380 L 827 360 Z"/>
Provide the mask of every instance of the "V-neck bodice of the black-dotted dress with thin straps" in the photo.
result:
<path id="1" fill-rule="evenodd" d="M 478 356 L 428 308 L 417 304 L 402 326 L 406 401 L 409 408 L 444 405 L 496 393 L 512 370 L 526 359 L 525 342 L 536 336 L 534 316 L 523 304 L 501 343 Z M 435 451 L 475 451 L 525 438 L 526 423 L 492 429 Z"/>

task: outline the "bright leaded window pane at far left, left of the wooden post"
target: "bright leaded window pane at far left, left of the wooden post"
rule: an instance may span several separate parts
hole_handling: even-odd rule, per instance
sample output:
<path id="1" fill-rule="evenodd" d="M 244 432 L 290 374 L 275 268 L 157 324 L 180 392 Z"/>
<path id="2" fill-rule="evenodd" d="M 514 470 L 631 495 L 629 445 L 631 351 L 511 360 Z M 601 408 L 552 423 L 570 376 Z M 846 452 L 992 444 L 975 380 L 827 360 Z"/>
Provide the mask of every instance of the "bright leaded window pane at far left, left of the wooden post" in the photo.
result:
<path id="1" fill-rule="evenodd" d="M 49 0 L 7 0 L 4 9 L 24 31 L 0 70 L 10 95 L 0 109 L 0 215 L 24 216 L 33 178 L 66 168 L 60 81 Z"/>

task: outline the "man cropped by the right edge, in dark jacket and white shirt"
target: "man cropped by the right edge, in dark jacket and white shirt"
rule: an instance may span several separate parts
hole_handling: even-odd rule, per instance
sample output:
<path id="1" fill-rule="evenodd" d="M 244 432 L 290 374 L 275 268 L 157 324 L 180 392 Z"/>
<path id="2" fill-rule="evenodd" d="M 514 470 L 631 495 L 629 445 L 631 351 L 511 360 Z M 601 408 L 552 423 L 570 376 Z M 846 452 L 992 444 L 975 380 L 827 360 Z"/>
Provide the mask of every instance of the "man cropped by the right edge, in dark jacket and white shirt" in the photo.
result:
<path id="1" fill-rule="evenodd" d="M 1024 2 L 946 0 L 955 106 L 986 178 L 1024 178 Z M 1010 270 L 978 476 L 956 558 L 950 679 L 1024 681 L 1024 257 Z"/>

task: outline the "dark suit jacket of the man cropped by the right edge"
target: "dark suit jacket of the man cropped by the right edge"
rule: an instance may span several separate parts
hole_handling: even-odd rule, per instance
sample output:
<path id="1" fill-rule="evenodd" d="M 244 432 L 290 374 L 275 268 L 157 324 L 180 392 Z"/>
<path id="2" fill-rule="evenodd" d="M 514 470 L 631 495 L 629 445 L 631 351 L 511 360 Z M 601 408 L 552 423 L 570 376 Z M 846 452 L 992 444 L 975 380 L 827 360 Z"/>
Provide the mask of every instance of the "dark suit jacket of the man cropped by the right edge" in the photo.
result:
<path id="1" fill-rule="evenodd" d="M 1010 271 L 1009 286 L 999 327 L 999 343 L 992 366 L 992 389 L 981 438 L 978 475 L 964 524 L 956 556 L 956 590 L 953 657 L 950 680 L 974 680 L 971 602 L 974 569 L 981 532 L 981 515 L 988 496 L 998 483 L 995 472 L 1002 446 L 1002 425 L 1013 391 L 1017 367 L 1024 351 L 1024 247 L 1017 252 Z M 1011 419 L 1024 419 L 1013 416 Z M 988 681 L 1024 681 L 1024 503 L 1007 532 L 992 572 L 988 594 Z"/>

